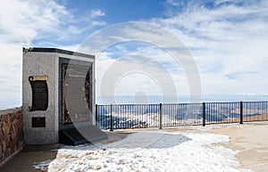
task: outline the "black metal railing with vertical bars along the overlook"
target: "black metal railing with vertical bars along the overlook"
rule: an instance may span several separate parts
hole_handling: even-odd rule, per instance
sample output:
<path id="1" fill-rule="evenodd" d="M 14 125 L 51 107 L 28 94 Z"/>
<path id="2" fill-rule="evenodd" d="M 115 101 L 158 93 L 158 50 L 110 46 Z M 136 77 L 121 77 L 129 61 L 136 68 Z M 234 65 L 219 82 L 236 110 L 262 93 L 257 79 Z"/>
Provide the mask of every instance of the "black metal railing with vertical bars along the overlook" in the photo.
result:
<path id="1" fill-rule="evenodd" d="M 268 120 L 268 102 L 96 104 L 102 129 L 180 127 Z"/>

